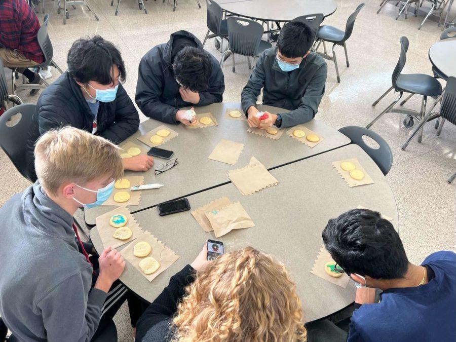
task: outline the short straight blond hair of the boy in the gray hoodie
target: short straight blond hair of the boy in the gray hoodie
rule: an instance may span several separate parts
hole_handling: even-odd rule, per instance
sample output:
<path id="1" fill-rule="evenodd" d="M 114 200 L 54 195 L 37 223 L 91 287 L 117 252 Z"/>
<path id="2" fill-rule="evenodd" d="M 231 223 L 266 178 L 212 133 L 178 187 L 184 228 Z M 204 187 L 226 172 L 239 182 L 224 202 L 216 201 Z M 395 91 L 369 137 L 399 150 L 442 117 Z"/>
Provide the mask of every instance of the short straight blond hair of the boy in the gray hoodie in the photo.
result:
<path id="1" fill-rule="evenodd" d="M 74 127 L 43 134 L 34 154 L 38 180 L 53 195 L 67 181 L 86 184 L 103 175 L 119 179 L 124 173 L 118 146 Z"/>

